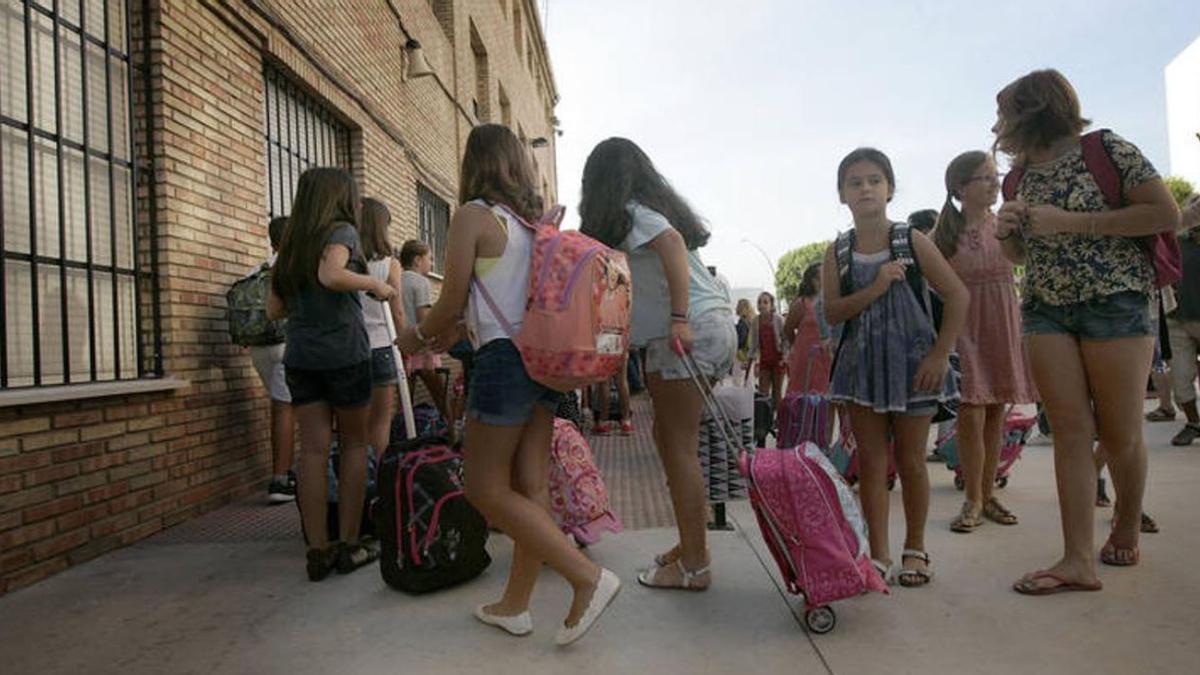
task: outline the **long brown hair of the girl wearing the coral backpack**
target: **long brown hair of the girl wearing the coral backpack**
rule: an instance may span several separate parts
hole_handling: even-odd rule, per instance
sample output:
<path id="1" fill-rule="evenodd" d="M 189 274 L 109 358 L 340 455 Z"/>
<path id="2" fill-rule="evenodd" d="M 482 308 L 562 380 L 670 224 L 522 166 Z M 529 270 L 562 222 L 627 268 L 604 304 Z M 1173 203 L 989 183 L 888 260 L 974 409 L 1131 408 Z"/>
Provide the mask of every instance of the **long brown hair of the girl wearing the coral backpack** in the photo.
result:
<path id="1" fill-rule="evenodd" d="M 484 124 L 470 130 L 462 155 L 460 204 L 499 203 L 532 222 L 542 214 L 536 185 L 529 154 L 509 127 Z"/>

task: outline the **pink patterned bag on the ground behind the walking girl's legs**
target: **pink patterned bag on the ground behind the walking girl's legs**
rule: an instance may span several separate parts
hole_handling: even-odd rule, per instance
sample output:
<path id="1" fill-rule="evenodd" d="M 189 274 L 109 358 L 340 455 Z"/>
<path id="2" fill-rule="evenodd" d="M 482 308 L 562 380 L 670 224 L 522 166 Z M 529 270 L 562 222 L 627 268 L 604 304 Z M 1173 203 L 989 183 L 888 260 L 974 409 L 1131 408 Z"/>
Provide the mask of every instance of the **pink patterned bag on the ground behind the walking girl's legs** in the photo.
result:
<path id="1" fill-rule="evenodd" d="M 620 532 L 592 449 L 569 420 L 554 419 L 550 453 L 550 508 L 559 528 L 580 544 L 596 543 L 602 530 Z"/>

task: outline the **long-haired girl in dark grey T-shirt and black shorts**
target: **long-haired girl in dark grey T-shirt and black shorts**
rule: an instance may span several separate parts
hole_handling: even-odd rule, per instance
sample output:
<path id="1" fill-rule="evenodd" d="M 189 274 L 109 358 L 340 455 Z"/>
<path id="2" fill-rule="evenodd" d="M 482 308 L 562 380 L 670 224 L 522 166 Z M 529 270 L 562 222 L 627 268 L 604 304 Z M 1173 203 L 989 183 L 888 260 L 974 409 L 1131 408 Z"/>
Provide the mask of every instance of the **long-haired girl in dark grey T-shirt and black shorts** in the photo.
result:
<path id="1" fill-rule="evenodd" d="M 283 366 L 300 423 L 300 512 L 308 540 L 308 579 L 335 567 L 348 574 L 378 557 L 359 542 L 367 476 L 367 402 L 371 347 L 359 291 L 390 300 L 395 288 L 366 274 L 355 222 L 359 189 L 340 168 L 300 175 L 292 222 L 271 275 L 268 316 L 288 318 Z M 337 522 L 341 540 L 325 533 L 332 414 L 341 436 Z"/>

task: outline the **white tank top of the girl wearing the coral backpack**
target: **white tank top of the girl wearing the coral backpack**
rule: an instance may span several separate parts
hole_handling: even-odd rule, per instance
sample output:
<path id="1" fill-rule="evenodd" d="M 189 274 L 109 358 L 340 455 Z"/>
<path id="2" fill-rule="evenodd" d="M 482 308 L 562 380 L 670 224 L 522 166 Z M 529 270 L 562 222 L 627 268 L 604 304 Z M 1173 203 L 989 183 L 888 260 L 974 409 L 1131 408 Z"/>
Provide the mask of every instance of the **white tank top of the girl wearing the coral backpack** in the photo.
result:
<path id="1" fill-rule="evenodd" d="M 475 199 L 470 203 L 491 210 L 506 231 L 508 241 L 504 245 L 504 255 L 500 256 L 500 259 L 491 269 L 481 276 L 475 276 L 474 281 L 487 288 L 487 293 L 496 303 L 496 307 L 508 319 L 512 328 L 512 334 L 516 334 L 517 330 L 521 330 L 521 324 L 524 322 L 526 303 L 529 297 L 529 263 L 533 257 L 533 231 L 521 225 L 516 216 L 502 207 L 490 207 L 482 199 Z M 492 340 L 514 336 L 505 330 L 491 307 L 488 307 L 475 283 L 472 283 L 470 294 L 467 299 L 467 329 L 470 334 L 470 341 L 476 350 Z"/>

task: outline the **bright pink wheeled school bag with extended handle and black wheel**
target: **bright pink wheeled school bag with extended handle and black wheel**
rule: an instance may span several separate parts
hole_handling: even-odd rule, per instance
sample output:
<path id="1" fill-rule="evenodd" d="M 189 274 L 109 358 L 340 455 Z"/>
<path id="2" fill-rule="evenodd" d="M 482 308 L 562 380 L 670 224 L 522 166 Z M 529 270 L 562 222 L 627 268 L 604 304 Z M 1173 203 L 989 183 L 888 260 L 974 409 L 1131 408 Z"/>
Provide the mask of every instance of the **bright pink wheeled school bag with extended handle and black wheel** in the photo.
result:
<path id="1" fill-rule="evenodd" d="M 677 346 L 676 352 L 682 351 Z M 691 354 L 682 358 L 726 442 L 738 442 Z M 821 448 L 812 443 L 791 449 L 743 447 L 739 465 L 750 483 L 750 504 L 762 537 L 787 590 L 804 597 L 809 631 L 833 631 L 838 619 L 832 602 L 868 591 L 888 592 L 871 565 L 858 502 Z"/>

